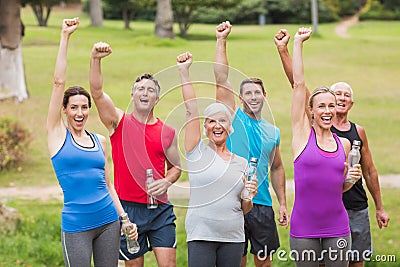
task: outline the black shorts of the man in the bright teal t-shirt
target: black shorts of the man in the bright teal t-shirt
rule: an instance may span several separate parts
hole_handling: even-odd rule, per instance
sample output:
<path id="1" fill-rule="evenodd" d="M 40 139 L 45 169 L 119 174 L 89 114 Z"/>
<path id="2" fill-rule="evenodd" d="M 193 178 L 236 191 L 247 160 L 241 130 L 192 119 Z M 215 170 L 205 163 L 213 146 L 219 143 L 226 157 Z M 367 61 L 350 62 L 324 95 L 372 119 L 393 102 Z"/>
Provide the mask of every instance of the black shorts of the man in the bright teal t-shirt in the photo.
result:
<path id="1" fill-rule="evenodd" d="M 269 256 L 280 246 L 276 229 L 274 210 L 270 206 L 253 204 L 253 208 L 244 216 L 245 245 L 243 256 L 247 254 L 248 241 L 250 253 L 261 257 Z"/>

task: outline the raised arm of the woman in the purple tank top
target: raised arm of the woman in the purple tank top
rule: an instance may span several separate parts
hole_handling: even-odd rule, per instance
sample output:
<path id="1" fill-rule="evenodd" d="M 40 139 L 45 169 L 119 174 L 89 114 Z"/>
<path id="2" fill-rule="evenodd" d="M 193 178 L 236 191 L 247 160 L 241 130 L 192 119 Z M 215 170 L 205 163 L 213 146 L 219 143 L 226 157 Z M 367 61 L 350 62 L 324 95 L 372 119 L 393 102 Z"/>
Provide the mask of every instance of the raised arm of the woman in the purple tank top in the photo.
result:
<path id="1" fill-rule="evenodd" d="M 304 80 L 303 42 L 311 36 L 310 28 L 299 28 L 293 44 L 292 149 L 296 159 L 307 144 L 311 121 L 307 117 L 307 87 Z"/>

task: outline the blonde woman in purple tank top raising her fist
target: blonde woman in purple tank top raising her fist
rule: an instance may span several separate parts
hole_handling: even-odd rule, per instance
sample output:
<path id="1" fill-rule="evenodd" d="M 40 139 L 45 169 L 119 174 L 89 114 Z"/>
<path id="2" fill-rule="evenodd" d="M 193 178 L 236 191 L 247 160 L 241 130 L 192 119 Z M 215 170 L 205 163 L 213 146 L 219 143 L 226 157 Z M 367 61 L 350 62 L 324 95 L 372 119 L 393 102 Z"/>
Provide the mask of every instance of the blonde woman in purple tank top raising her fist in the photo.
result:
<path id="1" fill-rule="evenodd" d="M 311 96 L 304 81 L 303 42 L 310 28 L 300 28 L 293 47 L 292 150 L 295 200 L 290 228 L 290 255 L 296 266 L 347 266 L 350 229 L 342 192 L 361 178 L 359 164 L 345 179 L 350 143 L 332 134 L 336 97 L 326 87 Z M 307 106 L 308 100 L 308 106 Z"/>

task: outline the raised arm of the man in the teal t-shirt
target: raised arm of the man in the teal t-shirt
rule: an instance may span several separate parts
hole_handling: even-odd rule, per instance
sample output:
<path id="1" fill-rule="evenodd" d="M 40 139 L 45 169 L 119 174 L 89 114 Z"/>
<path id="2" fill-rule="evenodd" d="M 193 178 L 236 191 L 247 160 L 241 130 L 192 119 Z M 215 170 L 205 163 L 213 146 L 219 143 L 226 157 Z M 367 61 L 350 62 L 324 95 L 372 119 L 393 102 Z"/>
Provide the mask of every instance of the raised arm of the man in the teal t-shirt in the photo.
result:
<path id="1" fill-rule="evenodd" d="M 216 99 L 227 105 L 233 112 L 236 110 L 235 95 L 228 80 L 229 65 L 226 56 L 226 39 L 231 32 L 229 21 L 222 22 L 216 27 L 217 44 L 215 48 L 214 76 L 216 82 Z"/>

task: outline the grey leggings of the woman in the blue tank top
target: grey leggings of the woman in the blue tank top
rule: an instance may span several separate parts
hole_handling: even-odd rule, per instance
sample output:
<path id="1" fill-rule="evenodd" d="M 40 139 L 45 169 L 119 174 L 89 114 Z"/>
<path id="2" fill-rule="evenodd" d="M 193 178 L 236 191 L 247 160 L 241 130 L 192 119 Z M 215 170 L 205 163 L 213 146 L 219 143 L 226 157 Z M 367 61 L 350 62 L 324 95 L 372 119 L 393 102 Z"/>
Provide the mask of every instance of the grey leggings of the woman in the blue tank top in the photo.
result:
<path id="1" fill-rule="evenodd" d="M 66 267 L 117 267 L 120 224 L 115 221 L 80 233 L 61 232 Z"/>

